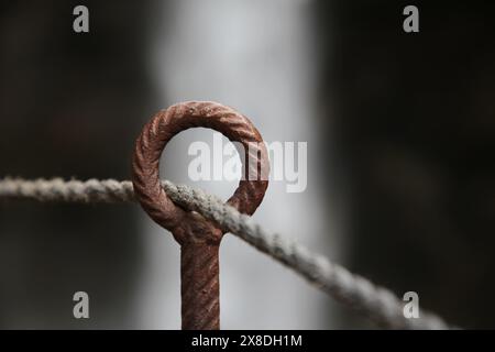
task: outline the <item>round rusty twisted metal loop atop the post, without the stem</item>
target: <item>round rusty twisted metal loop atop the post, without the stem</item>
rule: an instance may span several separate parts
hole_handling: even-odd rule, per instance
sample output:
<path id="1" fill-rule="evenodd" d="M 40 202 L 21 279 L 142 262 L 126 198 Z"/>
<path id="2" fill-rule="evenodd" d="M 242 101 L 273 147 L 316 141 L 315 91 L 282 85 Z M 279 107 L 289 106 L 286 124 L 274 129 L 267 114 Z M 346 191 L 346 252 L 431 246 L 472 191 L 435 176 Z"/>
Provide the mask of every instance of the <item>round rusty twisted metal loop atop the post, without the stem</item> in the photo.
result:
<path id="1" fill-rule="evenodd" d="M 184 238 L 185 232 L 200 232 L 204 237 L 209 233 L 207 235 L 212 238 L 205 240 L 217 242 L 223 233 L 199 215 L 176 206 L 161 186 L 160 157 L 163 150 L 175 134 L 190 128 L 213 129 L 244 146 L 244 161 L 248 163 L 248 166 L 244 165 L 244 178 L 228 200 L 240 212 L 252 215 L 263 200 L 268 182 L 267 177 L 262 176 L 268 174 L 268 156 L 252 122 L 232 108 L 217 102 L 179 102 L 160 111 L 144 125 L 132 161 L 132 183 L 142 208 L 155 222 L 172 231 L 180 244 L 190 240 Z M 256 163 L 248 162 L 252 157 L 256 158 Z M 256 175 L 255 179 L 253 175 Z M 187 226 L 189 228 L 185 229 Z"/>

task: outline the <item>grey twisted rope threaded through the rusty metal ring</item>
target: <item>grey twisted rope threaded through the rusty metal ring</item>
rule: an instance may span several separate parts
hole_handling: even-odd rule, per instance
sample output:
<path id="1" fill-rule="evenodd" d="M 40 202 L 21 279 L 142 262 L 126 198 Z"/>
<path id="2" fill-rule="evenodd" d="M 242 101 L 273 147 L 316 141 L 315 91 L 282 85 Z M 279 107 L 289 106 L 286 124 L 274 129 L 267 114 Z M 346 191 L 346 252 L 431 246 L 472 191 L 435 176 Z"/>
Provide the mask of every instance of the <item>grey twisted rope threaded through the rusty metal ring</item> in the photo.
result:
<path id="1" fill-rule="evenodd" d="M 300 274 L 317 288 L 351 306 L 382 327 L 391 329 L 450 328 L 441 318 L 424 310 L 420 311 L 419 318 L 405 318 L 404 301 L 391 290 L 350 273 L 343 266 L 311 253 L 296 242 L 265 231 L 251 217 L 224 205 L 215 196 L 188 186 L 174 185 L 168 180 L 163 182 L 163 187 L 174 202 L 216 221 L 223 230 L 240 237 L 261 252 Z M 81 204 L 136 201 L 131 182 L 114 179 L 65 182 L 62 178 L 0 179 L 0 200 L 22 198 Z"/>

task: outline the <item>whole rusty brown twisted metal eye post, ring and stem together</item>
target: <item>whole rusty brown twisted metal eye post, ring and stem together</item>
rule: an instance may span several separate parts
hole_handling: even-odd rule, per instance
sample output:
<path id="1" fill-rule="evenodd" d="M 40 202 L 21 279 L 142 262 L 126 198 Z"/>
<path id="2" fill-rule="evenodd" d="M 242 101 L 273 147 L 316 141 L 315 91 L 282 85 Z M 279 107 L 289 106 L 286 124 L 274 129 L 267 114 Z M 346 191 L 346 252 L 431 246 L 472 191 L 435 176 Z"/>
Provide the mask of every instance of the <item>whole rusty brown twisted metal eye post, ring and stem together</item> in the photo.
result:
<path id="1" fill-rule="evenodd" d="M 175 134 L 190 128 L 213 129 L 244 146 L 244 177 L 228 200 L 240 212 L 252 215 L 260 206 L 268 186 L 270 164 L 260 132 L 251 121 L 217 102 L 180 102 L 160 111 L 135 143 L 132 183 L 136 197 L 150 217 L 180 244 L 183 329 L 215 330 L 220 329 L 218 253 L 223 232 L 197 212 L 175 205 L 160 183 L 163 150 Z"/>

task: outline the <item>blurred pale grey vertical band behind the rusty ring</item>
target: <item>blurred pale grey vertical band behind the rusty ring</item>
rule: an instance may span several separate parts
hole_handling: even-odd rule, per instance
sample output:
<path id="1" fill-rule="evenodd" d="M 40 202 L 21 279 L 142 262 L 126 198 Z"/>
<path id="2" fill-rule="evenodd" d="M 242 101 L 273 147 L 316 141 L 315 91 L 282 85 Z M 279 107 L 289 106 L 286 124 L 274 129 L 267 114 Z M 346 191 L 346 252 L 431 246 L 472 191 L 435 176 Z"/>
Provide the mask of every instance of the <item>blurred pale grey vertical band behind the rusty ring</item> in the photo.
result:
<path id="1" fill-rule="evenodd" d="M 160 108 L 185 100 L 215 100 L 248 116 L 267 142 L 308 142 L 308 187 L 288 194 L 272 182 L 254 215 L 264 227 L 312 249 L 331 237 L 328 209 L 318 197 L 318 120 L 312 108 L 315 56 L 309 1 L 177 1 L 167 8 L 152 53 L 162 92 Z M 162 175 L 228 198 L 237 183 L 196 182 L 187 176 L 188 145 L 212 133 L 182 133 L 162 157 Z M 173 165 L 173 167 L 167 165 Z M 330 226 L 330 227 L 329 227 Z M 329 228 L 327 228 L 329 227 Z M 148 258 L 141 301 L 142 323 L 179 328 L 179 250 L 172 235 L 143 224 Z M 334 254 L 334 253 L 331 253 Z M 227 235 L 221 248 L 222 328 L 328 328 L 329 299 L 266 256 Z M 324 309 L 329 312 L 324 314 Z"/>

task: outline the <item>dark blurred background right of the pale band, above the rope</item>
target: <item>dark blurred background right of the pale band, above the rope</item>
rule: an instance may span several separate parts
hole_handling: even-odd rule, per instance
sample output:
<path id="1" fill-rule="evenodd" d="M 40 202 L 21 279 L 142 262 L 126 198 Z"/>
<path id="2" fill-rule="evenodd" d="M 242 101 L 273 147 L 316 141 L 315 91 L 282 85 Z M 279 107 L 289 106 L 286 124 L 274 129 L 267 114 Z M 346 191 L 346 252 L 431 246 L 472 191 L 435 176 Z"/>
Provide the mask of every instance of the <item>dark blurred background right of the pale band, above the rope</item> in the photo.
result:
<path id="1" fill-rule="evenodd" d="M 406 34 L 406 4 L 319 1 L 350 264 L 454 323 L 494 328 L 495 7 L 417 4 L 420 32 Z"/>

